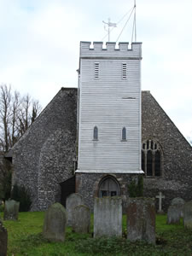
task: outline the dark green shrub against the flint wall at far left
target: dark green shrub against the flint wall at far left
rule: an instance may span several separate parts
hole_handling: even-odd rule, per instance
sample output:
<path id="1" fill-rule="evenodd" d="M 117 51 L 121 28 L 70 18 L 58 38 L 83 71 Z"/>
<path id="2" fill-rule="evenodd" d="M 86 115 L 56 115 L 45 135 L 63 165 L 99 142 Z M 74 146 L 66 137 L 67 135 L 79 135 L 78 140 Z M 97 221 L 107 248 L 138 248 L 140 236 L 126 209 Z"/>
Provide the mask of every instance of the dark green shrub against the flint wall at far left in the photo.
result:
<path id="1" fill-rule="evenodd" d="M 24 186 L 14 185 L 11 191 L 11 199 L 20 202 L 20 212 L 28 212 L 32 205 L 29 191 Z"/>

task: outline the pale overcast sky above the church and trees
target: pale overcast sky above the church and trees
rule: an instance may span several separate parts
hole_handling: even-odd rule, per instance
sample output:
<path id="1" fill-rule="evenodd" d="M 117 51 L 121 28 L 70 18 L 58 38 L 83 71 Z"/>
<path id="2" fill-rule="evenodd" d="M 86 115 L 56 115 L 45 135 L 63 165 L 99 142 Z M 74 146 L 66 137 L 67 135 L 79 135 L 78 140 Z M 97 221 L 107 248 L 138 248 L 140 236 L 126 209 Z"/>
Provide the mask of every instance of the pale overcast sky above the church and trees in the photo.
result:
<path id="1" fill-rule="evenodd" d="M 79 42 L 102 41 L 102 20 L 118 22 L 134 0 L 0 0 L 0 84 L 45 107 L 77 87 Z M 129 15 L 111 33 L 119 37 Z M 132 20 L 119 38 L 131 42 Z M 104 38 L 104 41 L 108 38 Z M 142 89 L 150 90 L 184 137 L 192 137 L 192 0 L 137 0 Z"/>

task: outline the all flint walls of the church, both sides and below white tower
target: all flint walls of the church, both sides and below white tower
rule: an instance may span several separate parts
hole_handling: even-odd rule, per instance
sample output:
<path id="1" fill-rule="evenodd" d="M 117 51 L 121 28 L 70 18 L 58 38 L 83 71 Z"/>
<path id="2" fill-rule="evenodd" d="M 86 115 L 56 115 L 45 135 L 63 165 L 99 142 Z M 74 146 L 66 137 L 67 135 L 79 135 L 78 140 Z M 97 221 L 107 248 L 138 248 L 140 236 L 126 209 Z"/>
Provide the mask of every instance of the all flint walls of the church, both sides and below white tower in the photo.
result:
<path id="1" fill-rule="evenodd" d="M 13 182 L 32 194 L 32 211 L 44 210 L 61 201 L 59 183 L 73 176 L 76 157 L 77 89 L 61 89 L 13 148 Z M 166 211 L 174 197 L 191 200 L 192 148 L 149 91 L 143 91 L 143 141 L 155 140 L 162 148 L 162 175 L 144 178 L 144 195 L 166 196 Z M 103 174 L 76 174 L 76 192 L 93 206 Z M 131 175 L 115 174 L 124 201 Z M 158 202 L 156 200 L 156 202 Z"/>

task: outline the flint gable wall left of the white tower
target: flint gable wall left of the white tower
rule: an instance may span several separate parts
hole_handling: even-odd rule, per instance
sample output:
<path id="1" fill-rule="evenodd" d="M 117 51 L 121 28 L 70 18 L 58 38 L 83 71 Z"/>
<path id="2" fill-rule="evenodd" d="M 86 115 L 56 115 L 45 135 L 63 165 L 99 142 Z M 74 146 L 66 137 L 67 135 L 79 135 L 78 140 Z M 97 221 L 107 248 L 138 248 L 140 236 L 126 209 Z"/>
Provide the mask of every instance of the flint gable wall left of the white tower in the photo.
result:
<path id="1" fill-rule="evenodd" d="M 77 89 L 61 88 L 13 148 L 13 183 L 32 195 L 32 211 L 61 200 L 62 181 L 73 176 Z"/>

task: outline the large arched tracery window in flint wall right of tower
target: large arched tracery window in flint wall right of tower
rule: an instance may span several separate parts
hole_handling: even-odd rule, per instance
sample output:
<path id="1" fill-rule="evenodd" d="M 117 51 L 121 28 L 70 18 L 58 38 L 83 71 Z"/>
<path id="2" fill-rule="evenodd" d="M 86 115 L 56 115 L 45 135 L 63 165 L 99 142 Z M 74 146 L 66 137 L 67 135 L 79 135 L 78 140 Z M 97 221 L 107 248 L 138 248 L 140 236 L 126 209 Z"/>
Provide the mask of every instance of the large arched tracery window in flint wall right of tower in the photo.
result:
<path id="1" fill-rule="evenodd" d="M 143 142 L 142 169 L 146 177 L 160 177 L 162 175 L 162 153 L 159 143 L 153 140 Z"/>

